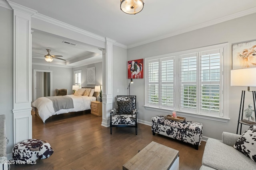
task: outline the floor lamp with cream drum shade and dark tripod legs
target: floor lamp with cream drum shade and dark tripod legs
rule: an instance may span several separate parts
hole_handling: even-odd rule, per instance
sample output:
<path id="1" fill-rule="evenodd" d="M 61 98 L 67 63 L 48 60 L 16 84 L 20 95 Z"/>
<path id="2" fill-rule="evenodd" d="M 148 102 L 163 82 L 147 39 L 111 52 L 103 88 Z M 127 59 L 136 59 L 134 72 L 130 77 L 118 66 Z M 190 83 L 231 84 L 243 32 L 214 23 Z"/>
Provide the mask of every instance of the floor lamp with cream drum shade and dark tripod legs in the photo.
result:
<path id="1" fill-rule="evenodd" d="M 230 85 L 231 86 L 247 86 L 247 91 L 252 92 L 253 98 L 253 106 L 254 106 L 254 114 L 256 117 L 256 94 L 255 91 L 250 91 L 250 86 L 256 86 L 256 68 L 242 68 L 231 70 L 230 72 Z M 241 102 L 240 102 L 240 109 L 239 109 L 239 116 L 237 122 L 237 129 L 236 134 L 238 134 L 239 124 L 240 124 L 240 135 L 242 131 L 242 124 L 244 125 L 252 125 L 251 123 L 244 122 L 243 115 L 244 115 L 244 98 L 245 98 L 246 90 L 242 90 L 241 94 Z M 240 119 L 241 116 L 241 119 Z M 254 123 L 254 122 L 252 122 Z"/>

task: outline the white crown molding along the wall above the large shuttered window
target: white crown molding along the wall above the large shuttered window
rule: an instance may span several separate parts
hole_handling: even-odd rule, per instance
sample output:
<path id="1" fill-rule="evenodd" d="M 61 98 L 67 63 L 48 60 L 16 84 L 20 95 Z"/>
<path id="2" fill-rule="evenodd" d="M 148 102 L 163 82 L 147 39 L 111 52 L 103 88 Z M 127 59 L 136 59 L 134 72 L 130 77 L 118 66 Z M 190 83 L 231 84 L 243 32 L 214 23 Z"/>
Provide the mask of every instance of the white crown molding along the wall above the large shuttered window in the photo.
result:
<path id="1" fill-rule="evenodd" d="M 240 18 L 240 17 L 243 17 L 243 16 L 254 14 L 254 13 L 256 13 L 256 7 L 249 8 L 247 10 L 240 11 L 240 12 L 237 12 L 237 13 L 234 13 L 234 14 L 230 14 L 228 16 L 224 16 L 224 17 L 221 17 L 221 18 L 217 18 L 215 20 L 206 21 L 204 23 L 193 25 L 191 27 L 187 27 L 187 28 L 184 28 L 184 29 L 179 29 L 179 30 L 173 31 L 169 34 L 166 34 L 166 35 L 154 38 L 154 39 L 150 39 L 148 41 L 143 41 L 143 42 L 140 42 L 140 43 L 135 43 L 135 44 L 132 44 L 132 45 L 128 45 L 127 48 L 130 49 L 130 48 L 137 47 L 137 46 L 140 46 L 140 45 L 144 45 L 144 44 L 147 44 L 147 43 L 152 43 L 152 42 L 158 41 L 160 39 L 165 39 L 165 38 L 168 38 L 168 37 L 172 37 L 174 35 L 179 35 L 179 34 L 182 34 L 182 33 L 189 32 L 189 31 L 194 31 L 196 29 L 200 29 L 200 28 L 203 28 L 203 27 L 208 27 L 208 26 L 211 26 L 211 25 L 215 25 L 215 24 L 222 23 L 222 22 L 225 22 L 225 21 L 233 20 L 233 19 L 236 19 L 236 18 Z"/>

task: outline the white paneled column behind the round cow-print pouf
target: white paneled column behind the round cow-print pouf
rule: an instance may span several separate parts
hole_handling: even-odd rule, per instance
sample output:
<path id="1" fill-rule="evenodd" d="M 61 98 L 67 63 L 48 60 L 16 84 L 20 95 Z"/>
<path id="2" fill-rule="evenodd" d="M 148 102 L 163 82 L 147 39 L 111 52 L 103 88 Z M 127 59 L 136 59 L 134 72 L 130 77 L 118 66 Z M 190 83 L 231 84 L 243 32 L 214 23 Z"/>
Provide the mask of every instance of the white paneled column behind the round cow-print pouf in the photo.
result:
<path id="1" fill-rule="evenodd" d="M 36 11 L 8 1 L 14 16 L 13 126 L 14 145 L 32 138 L 32 39 L 31 16 Z"/>

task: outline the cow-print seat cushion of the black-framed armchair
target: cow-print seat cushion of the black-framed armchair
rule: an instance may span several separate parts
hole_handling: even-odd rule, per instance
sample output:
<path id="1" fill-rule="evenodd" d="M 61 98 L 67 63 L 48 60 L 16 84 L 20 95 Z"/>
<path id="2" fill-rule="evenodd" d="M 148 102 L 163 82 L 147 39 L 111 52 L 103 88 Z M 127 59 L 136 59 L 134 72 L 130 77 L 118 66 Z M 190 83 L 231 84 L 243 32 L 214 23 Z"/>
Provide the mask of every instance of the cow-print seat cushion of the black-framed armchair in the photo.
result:
<path id="1" fill-rule="evenodd" d="M 135 125 L 136 115 L 113 115 L 112 125 Z"/>

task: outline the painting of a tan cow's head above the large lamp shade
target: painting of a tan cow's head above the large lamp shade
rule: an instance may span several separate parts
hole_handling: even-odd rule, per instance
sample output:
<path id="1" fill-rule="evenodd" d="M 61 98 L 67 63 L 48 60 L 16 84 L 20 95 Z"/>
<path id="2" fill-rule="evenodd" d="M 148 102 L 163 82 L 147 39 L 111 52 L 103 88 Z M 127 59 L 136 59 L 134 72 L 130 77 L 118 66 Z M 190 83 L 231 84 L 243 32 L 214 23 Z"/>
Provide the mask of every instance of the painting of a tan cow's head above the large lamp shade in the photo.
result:
<path id="1" fill-rule="evenodd" d="M 232 69 L 256 67 L 256 41 L 232 45 Z"/>

